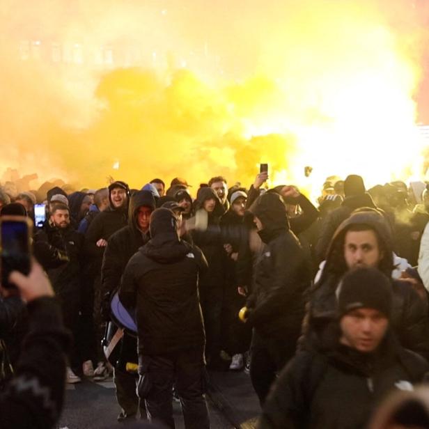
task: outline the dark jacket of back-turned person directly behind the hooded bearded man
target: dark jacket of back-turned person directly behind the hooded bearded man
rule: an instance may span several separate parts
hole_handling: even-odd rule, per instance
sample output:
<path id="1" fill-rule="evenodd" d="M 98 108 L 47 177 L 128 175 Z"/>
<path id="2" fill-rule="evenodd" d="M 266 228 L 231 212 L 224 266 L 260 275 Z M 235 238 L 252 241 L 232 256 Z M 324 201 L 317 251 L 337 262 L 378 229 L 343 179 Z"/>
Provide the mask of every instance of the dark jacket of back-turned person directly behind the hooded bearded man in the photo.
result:
<path id="1" fill-rule="evenodd" d="M 371 198 L 368 193 L 348 196 L 344 199 L 343 203 L 341 203 L 341 207 L 327 214 L 327 217 L 323 219 L 320 225 L 319 239 L 315 247 L 315 254 L 319 261 L 326 258 L 327 249 L 332 237 L 334 237 L 336 228 L 338 228 L 341 222 L 347 219 L 354 210 L 363 207 L 376 208 L 373 198 Z"/>

